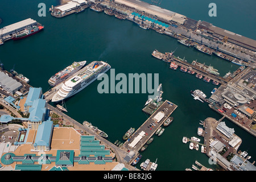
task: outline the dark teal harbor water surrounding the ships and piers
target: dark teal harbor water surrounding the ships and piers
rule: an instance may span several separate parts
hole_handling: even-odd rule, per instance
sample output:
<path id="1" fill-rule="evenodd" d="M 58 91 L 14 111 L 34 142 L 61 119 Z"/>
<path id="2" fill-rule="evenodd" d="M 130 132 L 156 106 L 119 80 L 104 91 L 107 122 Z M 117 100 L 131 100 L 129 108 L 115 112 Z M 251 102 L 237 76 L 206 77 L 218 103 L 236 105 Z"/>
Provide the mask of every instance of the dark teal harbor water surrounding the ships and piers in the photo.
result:
<path id="1" fill-rule="evenodd" d="M 160 6 L 256 39 L 254 31 L 251 31 L 255 29 L 255 23 L 250 23 L 255 19 L 255 6 L 250 6 L 250 3 L 255 5 L 254 1 L 243 5 L 237 0 L 216 1 L 217 17 L 213 18 L 208 16 L 210 2 L 196 2 L 192 4 L 191 1 L 184 0 L 181 4 L 180 1 L 163 1 Z M 179 69 L 174 71 L 169 68 L 169 64 L 152 57 L 151 53 L 154 49 L 171 52 L 177 48 L 175 56 L 182 59 L 185 57 L 189 62 L 197 60 L 205 65 L 212 65 L 218 69 L 221 76 L 229 71 L 236 71 L 237 65 L 217 56 L 201 53 L 195 48 L 183 46 L 170 36 L 158 34 L 153 30 L 143 30 L 129 20 L 119 20 L 90 9 L 64 18 L 54 18 L 48 9 L 51 5 L 59 5 L 59 1 L 44 1 L 46 16 L 39 17 L 39 3 L 37 0 L 17 1 L 14 5 L 7 1 L 0 2 L 0 28 L 27 18 L 35 19 L 44 26 L 44 30 L 36 35 L 16 42 L 10 40 L 0 46 L 0 59 L 8 71 L 15 64 L 15 71 L 28 77 L 30 85 L 42 87 L 43 92 L 51 88 L 48 85 L 49 77 L 73 61 L 106 61 L 115 69 L 116 75 L 125 73 L 127 77 L 129 73 L 158 73 L 159 84 L 163 86 L 163 99 L 174 102 L 178 107 L 172 114 L 174 121 L 160 137 L 155 135 L 154 141 L 142 152 L 143 157 L 137 167 L 139 168 L 139 164 L 147 158 L 152 162 L 158 158 L 157 170 L 162 171 L 191 168 L 195 160 L 205 167 L 220 169 L 211 165 L 207 155 L 200 150 L 189 150 L 189 144 L 182 142 L 184 136 L 197 137 L 200 120 L 222 117 L 210 109 L 208 104 L 194 100 L 190 93 L 191 90 L 201 89 L 209 97 L 216 85 L 199 80 L 195 75 L 180 72 Z M 195 11 L 192 11 L 192 7 Z M 110 75 L 110 72 L 107 74 Z M 149 93 L 100 94 L 97 91 L 99 83 L 100 81 L 94 81 L 86 89 L 65 100 L 67 114 L 81 123 L 91 122 L 105 131 L 109 135 L 108 139 L 114 143 L 117 139 L 122 140 L 122 136 L 130 127 L 138 129 L 146 121 L 148 116 L 142 109 Z M 255 137 L 228 119 L 224 121 L 242 138 L 238 150 L 246 150 L 251 155 L 250 162 L 253 162 L 256 159 Z"/>

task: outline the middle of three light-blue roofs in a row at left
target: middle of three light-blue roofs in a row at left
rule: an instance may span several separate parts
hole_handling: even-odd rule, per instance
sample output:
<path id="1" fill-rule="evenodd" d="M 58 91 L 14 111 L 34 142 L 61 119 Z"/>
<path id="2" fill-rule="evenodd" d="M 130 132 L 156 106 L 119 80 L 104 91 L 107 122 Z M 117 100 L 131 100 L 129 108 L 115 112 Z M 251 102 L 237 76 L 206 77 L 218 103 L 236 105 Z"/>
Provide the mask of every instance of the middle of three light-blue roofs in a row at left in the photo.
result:
<path id="1" fill-rule="evenodd" d="M 31 122 L 44 121 L 46 110 L 46 100 L 43 100 L 42 98 L 36 99 L 29 109 L 29 120 Z"/>

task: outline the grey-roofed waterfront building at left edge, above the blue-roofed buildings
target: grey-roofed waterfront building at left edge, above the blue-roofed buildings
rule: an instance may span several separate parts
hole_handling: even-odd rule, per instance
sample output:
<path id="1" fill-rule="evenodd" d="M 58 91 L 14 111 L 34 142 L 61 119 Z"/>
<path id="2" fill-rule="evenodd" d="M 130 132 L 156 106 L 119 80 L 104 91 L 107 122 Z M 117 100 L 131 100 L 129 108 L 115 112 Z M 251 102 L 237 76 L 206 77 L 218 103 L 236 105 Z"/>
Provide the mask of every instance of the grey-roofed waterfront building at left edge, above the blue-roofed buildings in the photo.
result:
<path id="1" fill-rule="evenodd" d="M 11 95 L 14 95 L 16 91 L 23 87 L 20 82 L 14 80 L 4 72 L 0 72 L 0 85 L 2 86 L 3 90 Z"/>

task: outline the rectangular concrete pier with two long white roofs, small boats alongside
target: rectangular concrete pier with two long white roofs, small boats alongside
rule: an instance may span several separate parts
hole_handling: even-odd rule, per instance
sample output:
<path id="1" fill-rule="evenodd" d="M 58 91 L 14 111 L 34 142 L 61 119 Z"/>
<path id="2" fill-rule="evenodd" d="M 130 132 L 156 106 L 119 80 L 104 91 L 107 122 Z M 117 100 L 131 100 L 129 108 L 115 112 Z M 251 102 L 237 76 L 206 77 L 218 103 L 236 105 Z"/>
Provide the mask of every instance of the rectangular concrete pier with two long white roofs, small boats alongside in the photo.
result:
<path id="1" fill-rule="evenodd" d="M 135 152 L 135 157 L 139 155 L 139 151 L 141 148 L 146 144 L 148 139 L 150 139 L 156 132 L 156 130 L 159 129 L 160 126 L 166 121 L 168 117 L 175 111 L 177 108 L 177 105 L 173 104 L 172 102 L 166 100 L 163 102 L 162 105 L 158 107 L 154 111 L 152 115 L 135 131 L 133 135 L 131 135 L 130 140 L 126 140 L 126 142 L 123 144 L 123 147 L 127 148 L 130 151 Z M 160 113 L 160 114 L 159 114 Z M 159 115 L 162 115 L 162 117 L 158 117 Z M 156 119 L 158 118 L 158 119 Z M 154 123 L 155 126 L 148 127 L 151 123 Z M 168 128 L 166 127 L 168 130 Z M 143 134 L 143 135 L 142 135 Z M 142 136 L 141 136 L 142 135 Z M 133 159 L 130 160 L 130 164 L 133 162 Z"/>

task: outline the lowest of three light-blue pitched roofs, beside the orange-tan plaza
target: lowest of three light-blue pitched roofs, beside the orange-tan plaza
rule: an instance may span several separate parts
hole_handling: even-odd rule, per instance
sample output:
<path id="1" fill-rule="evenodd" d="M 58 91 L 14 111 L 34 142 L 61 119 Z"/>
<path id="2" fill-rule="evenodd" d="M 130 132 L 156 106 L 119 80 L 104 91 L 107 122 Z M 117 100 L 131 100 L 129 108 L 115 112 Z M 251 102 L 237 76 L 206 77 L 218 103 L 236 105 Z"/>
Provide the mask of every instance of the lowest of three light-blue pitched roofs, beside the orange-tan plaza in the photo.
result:
<path id="1" fill-rule="evenodd" d="M 52 121 L 44 121 L 41 125 L 39 125 L 34 146 L 49 147 L 49 144 L 51 143 L 52 129 Z"/>

